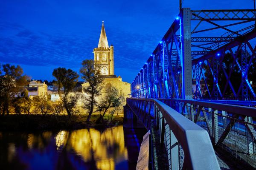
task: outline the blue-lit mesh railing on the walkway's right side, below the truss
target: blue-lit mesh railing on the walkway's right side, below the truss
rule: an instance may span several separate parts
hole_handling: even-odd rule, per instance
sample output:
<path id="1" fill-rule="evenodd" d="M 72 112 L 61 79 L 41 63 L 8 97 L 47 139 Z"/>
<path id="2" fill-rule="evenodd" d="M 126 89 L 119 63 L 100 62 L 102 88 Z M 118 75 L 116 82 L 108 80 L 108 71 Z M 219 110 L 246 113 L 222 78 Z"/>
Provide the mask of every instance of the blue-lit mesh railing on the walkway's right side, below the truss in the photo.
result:
<path id="1" fill-rule="evenodd" d="M 256 108 L 198 100 L 159 100 L 207 130 L 213 145 L 256 168 Z"/>

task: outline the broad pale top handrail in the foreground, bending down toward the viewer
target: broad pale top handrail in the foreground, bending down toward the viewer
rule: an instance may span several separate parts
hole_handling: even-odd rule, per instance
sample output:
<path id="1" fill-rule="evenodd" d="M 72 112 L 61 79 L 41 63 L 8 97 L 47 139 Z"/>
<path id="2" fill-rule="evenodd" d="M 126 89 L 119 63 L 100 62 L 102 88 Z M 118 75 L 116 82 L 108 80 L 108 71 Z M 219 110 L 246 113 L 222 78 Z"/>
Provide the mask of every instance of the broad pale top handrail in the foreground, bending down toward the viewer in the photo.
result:
<path id="1" fill-rule="evenodd" d="M 160 109 L 182 146 L 186 167 L 192 170 L 219 170 L 218 160 L 207 131 L 163 102 L 154 99 L 154 104 Z"/>

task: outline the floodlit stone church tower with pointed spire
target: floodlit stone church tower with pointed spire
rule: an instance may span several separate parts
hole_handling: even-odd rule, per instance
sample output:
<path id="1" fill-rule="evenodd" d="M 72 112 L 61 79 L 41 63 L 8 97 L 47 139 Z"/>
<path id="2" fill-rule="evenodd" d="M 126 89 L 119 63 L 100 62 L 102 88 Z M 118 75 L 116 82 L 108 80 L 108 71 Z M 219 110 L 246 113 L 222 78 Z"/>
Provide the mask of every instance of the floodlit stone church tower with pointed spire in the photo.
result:
<path id="1" fill-rule="evenodd" d="M 108 46 L 108 39 L 102 21 L 102 29 L 99 36 L 99 44 L 93 49 L 94 67 L 101 75 L 114 75 L 114 47 Z"/>

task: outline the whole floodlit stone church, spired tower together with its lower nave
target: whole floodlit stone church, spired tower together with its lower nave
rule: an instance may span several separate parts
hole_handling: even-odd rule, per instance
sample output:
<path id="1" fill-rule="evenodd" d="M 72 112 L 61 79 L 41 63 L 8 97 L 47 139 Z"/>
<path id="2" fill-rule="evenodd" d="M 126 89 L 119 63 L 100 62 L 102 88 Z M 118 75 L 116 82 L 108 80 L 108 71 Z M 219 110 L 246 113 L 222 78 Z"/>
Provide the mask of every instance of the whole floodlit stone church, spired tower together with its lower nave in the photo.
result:
<path id="1" fill-rule="evenodd" d="M 100 71 L 104 78 L 102 83 L 102 95 L 115 86 L 119 89 L 120 94 L 129 97 L 131 94 L 131 84 L 123 82 L 122 77 L 114 74 L 114 46 L 108 46 L 108 39 L 104 28 L 104 21 L 102 21 L 102 29 L 99 37 L 99 44 L 97 48 L 93 49 L 94 53 L 94 67 Z M 87 83 L 82 84 L 85 87 Z M 126 100 L 125 100 L 126 101 Z"/>

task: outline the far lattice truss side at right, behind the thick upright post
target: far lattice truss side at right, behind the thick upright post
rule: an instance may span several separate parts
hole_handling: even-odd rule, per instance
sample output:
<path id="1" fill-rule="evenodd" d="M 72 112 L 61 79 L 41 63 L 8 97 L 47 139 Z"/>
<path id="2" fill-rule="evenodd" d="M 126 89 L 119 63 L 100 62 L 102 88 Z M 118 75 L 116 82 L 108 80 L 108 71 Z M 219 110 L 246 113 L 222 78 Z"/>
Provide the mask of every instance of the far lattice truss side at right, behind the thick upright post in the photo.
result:
<path id="1" fill-rule="evenodd" d="M 249 80 L 247 79 L 248 70 L 252 64 L 253 57 L 256 56 L 256 47 L 253 48 L 249 42 L 249 40 L 256 37 L 256 30 L 251 31 L 250 33 L 245 34 L 244 36 L 236 38 L 233 42 L 229 42 L 226 45 L 221 46 L 220 48 L 209 51 L 208 54 L 203 55 L 202 57 L 198 57 L 197 59 L 194 59 L 192 61 L 192 65 L 206 62 L 209 65 L 209 68 L 212 73 L 213 77 L 213 90 L 209 95 L 209 98 L 211 99 L 220 99 L 224 97 L 225 92 L 227 91 L 228 85 L 230 86 L 230 89 L 233 92 L 233 95 L 236 99 L 242 99 L 247 100 L 248 99 L 248 93 L 252 95 L 252 97 L 255 99 L 256 94 L 253 91 L 253 88 L 250 85 Z M 246 48 L 247 46 L 247 48 Z M 233 48 L 236 48 L 236 54 L 234 54 Z M 247 56 L 247 51 L 250 52 L 251 56 Z M 224 59 L 224 52 L 229 51 L 230 54 L 233 56 L 233 64 L 231 67 L 230 72 L 227 73 L 227 71 L 223 67 L 223 59 Z M 239 51 L 241 51 L 239 53 Z M 217 54 L 219 56 L 217 56 Z M 238 60 L 238 54 L 241 54 L 241 60 Z M 245 55 L 246 54 L 246 55 Z M 212 61 L 212 63 L 209 63 L 209 59 Z M 217 59 L 216 62 L 214 62 Z M 239 86 L 239 89 L 234 89 L 234 86 L 232 85 L 232 82 L 230 81 L 231 74 L 233 72 L 233 68 L 237 65 L 239 67 L 239 71 L 241 73 L 241 84 Z M 216 68 L 218 66 L 218 69 Z M 192 69 L 192 71 L 194 71 Z M 226 84 L 224 86 L 224 89 L 221 91 L 220 87 L 218 85 L 218 75 L 220 72 L 224 73 L 224 77 L 226 78 Z M 206 80 L 204 79 L 204 91 L 209 91 L 208 84 Z M 240 97 L 241 96 L 241 97 Z M 198 96 L 197 96 L 198 97 Z"/>

